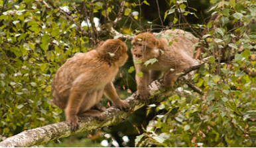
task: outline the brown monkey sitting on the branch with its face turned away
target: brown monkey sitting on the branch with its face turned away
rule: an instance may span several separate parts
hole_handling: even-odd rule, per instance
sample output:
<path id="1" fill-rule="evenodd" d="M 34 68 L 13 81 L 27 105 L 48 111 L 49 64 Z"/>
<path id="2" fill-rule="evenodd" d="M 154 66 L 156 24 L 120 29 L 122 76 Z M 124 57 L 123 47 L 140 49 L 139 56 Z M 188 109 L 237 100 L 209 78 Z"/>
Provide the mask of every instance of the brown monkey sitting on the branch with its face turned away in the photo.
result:
<path id="1" fill-rule="evenodd" d="M 115 75 L 127 58 L 126 44 L 119 39 L 109 39 L 100 42 L 96 50 L 74 55 L 56 71 L 52 80 L 52 103 L 64 110 L 73 131 L 78 129 L 78 116 L 104 119 L 105 107 L 99 105 L 103 94 L 117 108 L 129 108 L 113 86 Z"/>

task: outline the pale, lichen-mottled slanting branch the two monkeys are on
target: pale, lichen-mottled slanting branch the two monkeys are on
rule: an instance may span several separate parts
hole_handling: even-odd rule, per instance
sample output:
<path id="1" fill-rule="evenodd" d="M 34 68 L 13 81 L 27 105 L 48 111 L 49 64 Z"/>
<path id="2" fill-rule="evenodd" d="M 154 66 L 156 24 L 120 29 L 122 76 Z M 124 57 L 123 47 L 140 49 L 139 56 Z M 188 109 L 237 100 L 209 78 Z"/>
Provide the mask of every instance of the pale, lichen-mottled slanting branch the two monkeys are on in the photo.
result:
<path id="1" fill-rule="evenodd" d="M 191 70 L 194 68 L 189 69 Z M 163 79 L 159 79 L 148 85 L 150 93 L 149 100 L 151 103 L 161 102 L 166 98 L 163 92 L 166 92 L 167 90 L 162 87 L 162 82 Z M 40 145 L 55 139 L 69 137 L 76 133 L 83 133 L 103 126 L 115 126 L 116 124 L 123 122 L 123 120 L 125 120 L 130 114 L 145 105 L 142 102 L 139 102 L 139 100 L 135 100 L 136 95 L 136 93 L 133 93 L 126 99 L 130 105 L 128 112 L 119 110 L 115 106 L 111 106 L 104 112 L 105 120 L 103 121 L 96 120 L 96 118 L 92 117 L 79 117 L 79 129 L 77 131 L 72 131 L 68 122 L 59 122 L 57 124 L 50 124 L 48 126 L 26 130 L 17 135 L 13 135 L 12 137 L 8 137 L 4 141 L 0 142 L 0 147 L 31 147 L 32 145 Z"/>

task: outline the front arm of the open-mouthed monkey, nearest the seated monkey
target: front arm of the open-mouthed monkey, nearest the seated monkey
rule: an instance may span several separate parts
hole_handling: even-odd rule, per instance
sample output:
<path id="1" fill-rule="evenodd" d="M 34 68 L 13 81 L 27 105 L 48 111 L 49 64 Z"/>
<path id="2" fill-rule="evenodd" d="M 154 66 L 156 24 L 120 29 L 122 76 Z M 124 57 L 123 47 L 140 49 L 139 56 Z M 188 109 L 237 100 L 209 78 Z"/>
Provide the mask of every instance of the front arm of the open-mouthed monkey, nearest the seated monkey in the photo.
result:
<path id="1" fill-rule="evenodd" d="M 140 71 L 143 73 L 143 77 L 137 75 Z M 148 104 L 149 91 L 147 90 L 147 84 L 149 82 L 149 71 L 136 67 L 135 79 L 137 83 L 137 98 Z"/>

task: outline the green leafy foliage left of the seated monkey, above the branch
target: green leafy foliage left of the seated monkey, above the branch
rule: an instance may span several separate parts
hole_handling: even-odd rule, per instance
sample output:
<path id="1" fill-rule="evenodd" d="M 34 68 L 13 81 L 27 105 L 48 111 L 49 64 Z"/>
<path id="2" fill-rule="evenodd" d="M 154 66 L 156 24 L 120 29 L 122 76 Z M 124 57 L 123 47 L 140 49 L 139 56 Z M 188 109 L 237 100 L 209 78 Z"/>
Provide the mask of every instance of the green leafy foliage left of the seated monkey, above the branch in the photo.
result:
<path id="1" fill-rule="evenodd" d="M 2 10 L 0 135 L 7 137 L 60 121 L 62 111 L 50 105 L 51 79 L 68 57 L 86 52 L 88 38 L 42 1 L 9 1 Z"/>

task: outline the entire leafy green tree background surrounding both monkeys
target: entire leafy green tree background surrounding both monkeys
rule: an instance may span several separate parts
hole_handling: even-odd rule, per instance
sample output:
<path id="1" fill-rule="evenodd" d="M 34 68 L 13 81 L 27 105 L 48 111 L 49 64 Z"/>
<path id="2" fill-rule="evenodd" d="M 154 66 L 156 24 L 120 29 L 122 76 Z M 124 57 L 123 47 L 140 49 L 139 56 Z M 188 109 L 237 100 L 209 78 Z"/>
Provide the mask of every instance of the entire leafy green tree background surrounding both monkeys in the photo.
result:
<path id="1" fill-rule="evenodd" d="M 99 136 L 110 132 L 119 146 L 125 134 L 137 147 L 255 146 L 255 16 L 254 0 L 0 0 L 0 141 L 64 120 L 50 89 L 66 59 L 101 40 L 131 48 L 140 32 L 179 28 L 200 38 L 193 77 L 131 115 L 123 122 L 131 128 L 98 129 L 96 139 L 113 143 Z M 136 91 L 134 76 L 130 56 L 115 81 L 120 98 Z"/>

